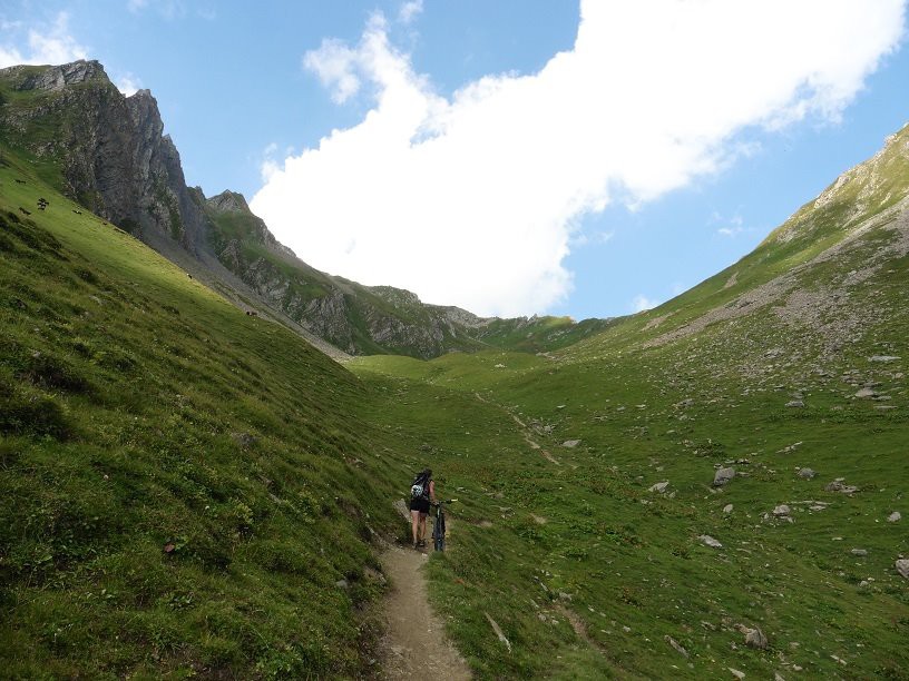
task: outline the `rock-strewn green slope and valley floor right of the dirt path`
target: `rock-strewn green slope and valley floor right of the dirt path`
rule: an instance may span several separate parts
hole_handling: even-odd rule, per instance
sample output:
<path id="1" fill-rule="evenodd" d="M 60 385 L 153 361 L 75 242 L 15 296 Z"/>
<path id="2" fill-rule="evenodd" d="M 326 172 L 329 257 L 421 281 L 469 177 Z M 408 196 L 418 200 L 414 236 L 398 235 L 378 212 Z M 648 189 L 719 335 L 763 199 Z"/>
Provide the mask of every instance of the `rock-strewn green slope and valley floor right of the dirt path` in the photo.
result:
<path id="1" fill-rule="evenodd" d="M 733 267 L 576 345 L 352 365 L 457 488 L 430 568 L 476 670 L 905 675 L 907 196 L 903 128 Z"/>

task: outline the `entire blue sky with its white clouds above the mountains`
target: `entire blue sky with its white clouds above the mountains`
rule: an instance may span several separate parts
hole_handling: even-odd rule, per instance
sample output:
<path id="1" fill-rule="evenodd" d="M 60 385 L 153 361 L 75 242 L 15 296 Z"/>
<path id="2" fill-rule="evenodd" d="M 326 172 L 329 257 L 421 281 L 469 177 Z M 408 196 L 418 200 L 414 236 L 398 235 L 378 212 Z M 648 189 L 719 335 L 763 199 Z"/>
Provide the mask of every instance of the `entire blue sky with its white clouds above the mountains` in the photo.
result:
<path id="1" fill-rule="evenodd" d="M 0 63 L 99 59 L 302 259 L 481 314 L 668 299 L 909 120 L 899 1 L 261 4 L 6 0 Z"/>

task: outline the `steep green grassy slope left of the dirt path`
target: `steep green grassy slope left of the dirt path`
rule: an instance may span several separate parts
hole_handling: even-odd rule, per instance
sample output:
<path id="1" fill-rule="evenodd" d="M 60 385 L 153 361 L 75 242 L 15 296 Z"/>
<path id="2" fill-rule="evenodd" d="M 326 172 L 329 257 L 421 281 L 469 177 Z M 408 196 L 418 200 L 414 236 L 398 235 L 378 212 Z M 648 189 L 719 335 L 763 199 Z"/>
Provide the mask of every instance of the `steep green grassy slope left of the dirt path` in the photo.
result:
<path id="1" fill-rule="evenodd" d="M 2 158 L 3 675 L 364 673 L 368 391 Z"/>

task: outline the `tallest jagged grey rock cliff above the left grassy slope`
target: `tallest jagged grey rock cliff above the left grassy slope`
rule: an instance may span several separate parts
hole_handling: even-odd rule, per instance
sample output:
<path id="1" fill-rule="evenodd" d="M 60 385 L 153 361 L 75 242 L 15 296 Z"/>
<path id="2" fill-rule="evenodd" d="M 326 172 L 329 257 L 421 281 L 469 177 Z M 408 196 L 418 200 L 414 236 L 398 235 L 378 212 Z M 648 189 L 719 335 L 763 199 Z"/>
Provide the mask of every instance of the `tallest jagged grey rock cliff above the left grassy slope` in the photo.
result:
<path id="1" fill-rule="evenodd" d="M 167 239 L 197 253 L 205 216 L 148 90 L 124 97 L 97 61 L 0 75 L 18 79 L 20 91 L 40 91 L 35 107 L 4 112 L 0 122 L 17 129 L 37 156 L 60 159 L 74 198 L 156 246 Z M 51 137 L 31 134 L 39 119 L 56 124 Z"/>

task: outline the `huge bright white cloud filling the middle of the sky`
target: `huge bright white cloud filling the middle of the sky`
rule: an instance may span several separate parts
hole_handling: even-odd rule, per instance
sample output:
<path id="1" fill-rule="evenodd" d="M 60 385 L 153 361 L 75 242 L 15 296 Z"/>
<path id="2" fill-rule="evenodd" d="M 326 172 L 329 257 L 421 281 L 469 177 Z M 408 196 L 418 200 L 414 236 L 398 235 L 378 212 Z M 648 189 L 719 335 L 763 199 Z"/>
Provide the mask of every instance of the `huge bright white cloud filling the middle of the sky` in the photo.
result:
<path id="1" fill-rule="evenodd" d="M 747 155 L 740 134 L 837 120 L 902 32 L 902 0 L 584 0 L 571 50 L 450 98 L 381 16 L 304 65 L 363 120 L 270 169 L 253 209 L 315 267 L 480 314 L 545 312 L 584 216 Z M 365 87 L 369 86 L 369 88 Z M 274 171 L 271 171 L 274 170 Z"/>

